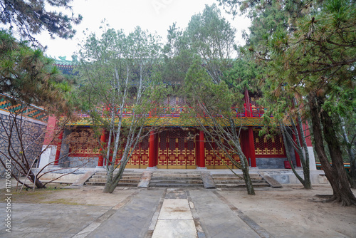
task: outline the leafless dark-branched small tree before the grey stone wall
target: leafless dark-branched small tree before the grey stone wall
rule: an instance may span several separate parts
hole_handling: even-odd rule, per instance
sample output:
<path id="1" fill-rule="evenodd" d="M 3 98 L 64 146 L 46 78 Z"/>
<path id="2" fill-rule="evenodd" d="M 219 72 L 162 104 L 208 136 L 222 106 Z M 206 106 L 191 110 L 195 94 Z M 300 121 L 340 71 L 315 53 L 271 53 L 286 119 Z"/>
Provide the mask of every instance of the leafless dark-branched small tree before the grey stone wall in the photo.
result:
<path id="1" fill-rule="evenodd" d="M 37 172 L 34 169 L 43 152 L 46 151 L 51 144 L 58 143 L 58 135 L 64 130 L 69 118 L 62 118 L 61 123 L 57 125 L 56 130 L 53 130 L 51 134 L 51 142 L 42 150 L 43 139 L 47 133 L 46 125 L 39 126 L 30 121 L 27 114 L 28 111 L 33 110 L 33 106 L 27 105 L 26 103 L 16 103 L 16 105 L 13 105 L 13 108 L 16 108 L 16 110 L 9 110 L 7 115 L 3 114 L 0 116 L 2 131 L 0 134 L 2 143 L 0 150 L 0 154 L 2 155 L 0 159 L 1 165 L 6 167 L 6 165 L 10 164 L 11 177 L 14 177 L 19 183 L 28 188 L 45 188 L 48 182 L 53 182 L 60 177 L 68 175 L 68 173 L 65 173 L 54 180 L 48 182 L 41 181 L 43 175 L 63 170 L 63 168 L 49 168 L 50 165 L 54 165 L 55 161 L 48 162 L 48 164 L 44 165 L 41 170 Z M 68 156 L 68 154 L 63 155 L 57 161 L 61 161 L 63 157 L 66 156 Z M 45 169 L 48 170 L 43 172 Z M 25 177 L 25 179 L 23 180 L 21 177 Z M 26 180 L 32 182 L 34 186 L 26 183 Z"/>

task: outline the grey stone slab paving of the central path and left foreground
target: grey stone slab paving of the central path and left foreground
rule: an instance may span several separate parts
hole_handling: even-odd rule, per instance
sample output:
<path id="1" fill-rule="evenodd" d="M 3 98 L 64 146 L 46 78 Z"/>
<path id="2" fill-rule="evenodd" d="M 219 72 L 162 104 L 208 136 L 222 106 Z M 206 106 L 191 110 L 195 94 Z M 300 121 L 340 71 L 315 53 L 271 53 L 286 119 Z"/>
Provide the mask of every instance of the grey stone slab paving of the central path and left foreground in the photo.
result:
<path id="1" fill-rule="evenodd" d="M 119 195 L 120 196 L 120 195 Z M 271 237 L 219 190 L 137 188 L 112 207 L 0 202 L 0 237 Z"/>

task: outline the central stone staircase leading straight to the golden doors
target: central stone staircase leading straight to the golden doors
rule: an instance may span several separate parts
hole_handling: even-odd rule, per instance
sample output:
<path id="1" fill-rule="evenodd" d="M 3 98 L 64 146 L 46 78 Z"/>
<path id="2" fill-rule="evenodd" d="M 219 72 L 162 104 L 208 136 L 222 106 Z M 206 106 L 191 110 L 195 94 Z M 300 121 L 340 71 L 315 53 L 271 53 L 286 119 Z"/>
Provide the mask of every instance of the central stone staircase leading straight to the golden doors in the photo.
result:
<path id="1" fill-rule="evenodd" d="M 199 171 L 155 171 L 149 187 L 204 187 Z"/>

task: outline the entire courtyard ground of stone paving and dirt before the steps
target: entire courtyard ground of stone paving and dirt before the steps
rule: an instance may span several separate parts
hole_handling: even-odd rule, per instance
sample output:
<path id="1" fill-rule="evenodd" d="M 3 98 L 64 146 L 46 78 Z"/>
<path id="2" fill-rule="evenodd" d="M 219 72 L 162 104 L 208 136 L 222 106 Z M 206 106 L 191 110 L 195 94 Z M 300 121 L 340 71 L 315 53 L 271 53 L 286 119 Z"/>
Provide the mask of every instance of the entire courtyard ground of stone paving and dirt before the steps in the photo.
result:
<path id="1" fill-rule="evenodd" d="M 256 196 L 243 189 L 102 189 L 15 200 L 11 233 L 1 222 L 0 237 L 356 237 L 355 207 L 311 201 L 329 187 L 264 188 Z M 0 214 L 5 208 L 1 202 Z"/>

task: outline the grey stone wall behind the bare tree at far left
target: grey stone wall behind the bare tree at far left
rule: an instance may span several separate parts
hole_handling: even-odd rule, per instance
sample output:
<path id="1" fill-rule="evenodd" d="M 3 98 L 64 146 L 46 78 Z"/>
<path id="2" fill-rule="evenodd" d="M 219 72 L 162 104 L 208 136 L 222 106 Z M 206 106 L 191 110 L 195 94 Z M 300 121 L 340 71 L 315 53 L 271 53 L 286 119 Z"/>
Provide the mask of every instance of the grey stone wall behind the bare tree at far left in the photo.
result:
<path id="1" fill-rule="evenodd" d="M 10 143 L 10 154 L 21 159 L 19 152 L 24 150 L 23 155 L 26 156 L 31 165 L 33 159 L 41 153 L 46 124 L 36 123 L 36 120 L 28 118 L 22 120 L 22 122 L 17 120 L 17 123 L 21 125 L 21 127 L 18 127 L 19 132 L 15 127 L 11 130 L 11 125 L 14 125 L 14 118 L 9 113 L 0 112 L 0 159 L 5 161 L 9 157 L 8 146 Z M 4 166 L 0 164 L 0 177 L 4 176 L 4 170 Z"/>

